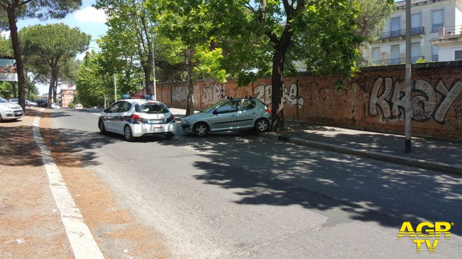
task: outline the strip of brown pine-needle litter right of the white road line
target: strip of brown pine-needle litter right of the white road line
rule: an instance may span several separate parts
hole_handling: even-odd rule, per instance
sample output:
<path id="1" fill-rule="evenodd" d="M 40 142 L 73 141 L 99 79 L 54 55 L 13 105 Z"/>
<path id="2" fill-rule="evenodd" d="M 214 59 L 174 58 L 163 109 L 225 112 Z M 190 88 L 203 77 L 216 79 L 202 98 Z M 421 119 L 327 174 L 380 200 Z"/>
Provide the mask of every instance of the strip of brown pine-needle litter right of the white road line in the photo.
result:
<path id="1" fill-rule="evenodd" d="M 66 137 L 53 125 L 51 112 L 41 117 L 45 144 L 105 257 L 170 257 L 162 236 L 135 222 L 130 211 L 117 203 L 115 193 L 85 167 L 85 159 L 66 144 Z"/>

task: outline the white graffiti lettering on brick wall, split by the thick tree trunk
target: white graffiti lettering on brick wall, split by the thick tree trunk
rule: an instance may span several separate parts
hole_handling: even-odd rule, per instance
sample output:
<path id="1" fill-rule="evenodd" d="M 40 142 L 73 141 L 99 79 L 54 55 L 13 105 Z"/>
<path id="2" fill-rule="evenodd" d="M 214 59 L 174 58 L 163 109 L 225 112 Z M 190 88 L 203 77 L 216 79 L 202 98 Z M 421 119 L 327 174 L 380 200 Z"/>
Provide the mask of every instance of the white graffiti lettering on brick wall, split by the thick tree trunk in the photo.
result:
<path id="1" fill-rule="evenodd" d="M 289 89 L 285 87 L 285 84 L 282 84 L 282 88 L 284 89 L 282 93 L 283 102 L 303 107 L 303 97 L 297 98 L 298 87 L 296 83 L 291 83 Z M 260 84 L 254 87 L 254 97 L 266 104 L 271 104 L 271 84 Z"/>

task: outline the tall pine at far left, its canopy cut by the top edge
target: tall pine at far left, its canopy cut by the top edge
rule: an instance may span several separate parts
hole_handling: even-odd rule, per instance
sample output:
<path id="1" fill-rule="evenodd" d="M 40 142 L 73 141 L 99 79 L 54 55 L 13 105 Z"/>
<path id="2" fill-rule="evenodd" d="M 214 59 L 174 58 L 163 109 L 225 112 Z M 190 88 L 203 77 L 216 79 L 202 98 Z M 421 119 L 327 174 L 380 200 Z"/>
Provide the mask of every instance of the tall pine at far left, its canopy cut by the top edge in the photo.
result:
<path id="1" fill-rule="evenodd" d="M 19 104 L 25 109 L 25 73 L 23 68 L 20 40 L 17 33 L 18 19 L 64 18 L 82 5 L 81 0 L 0 0 L 0 7 L 5 12 L 0 13 L 0 26 L 5 26 L 8 20 L 13 53 L 16 59 L 16 71 L 19 90 Z"/>

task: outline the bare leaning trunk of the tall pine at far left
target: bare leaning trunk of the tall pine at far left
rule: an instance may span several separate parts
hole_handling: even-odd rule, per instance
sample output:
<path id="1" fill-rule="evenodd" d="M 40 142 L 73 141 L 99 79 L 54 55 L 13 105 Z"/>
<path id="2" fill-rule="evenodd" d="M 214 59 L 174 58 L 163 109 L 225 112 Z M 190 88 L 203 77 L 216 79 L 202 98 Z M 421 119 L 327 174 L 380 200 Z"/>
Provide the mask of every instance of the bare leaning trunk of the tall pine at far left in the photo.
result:
<path id="1" fill-rule="evenodd" d="M 14 58 L 16 59 L 16 73 L 17 73 L 17 90 L 18 90 L 18 103 L 26 111 L 26 100 L 25 100 L 25 77 L 23 59 L 21 57 L 21 50 L 19 45 L 19 39 L 17 36 L 16 16 L 15 10 L 8 10 L 8 24 L 10 26 L 10 37 L 11 44 L 13 45 Z"/>

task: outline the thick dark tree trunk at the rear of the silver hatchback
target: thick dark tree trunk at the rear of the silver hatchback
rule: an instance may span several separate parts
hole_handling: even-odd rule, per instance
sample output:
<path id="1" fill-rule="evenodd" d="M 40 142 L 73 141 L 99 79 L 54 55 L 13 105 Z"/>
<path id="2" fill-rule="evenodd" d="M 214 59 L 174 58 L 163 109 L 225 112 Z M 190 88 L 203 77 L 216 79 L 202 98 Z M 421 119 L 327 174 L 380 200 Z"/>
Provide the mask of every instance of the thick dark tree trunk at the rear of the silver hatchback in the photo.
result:
<path id="1" fill-rule="evenodd" d="M 281 132 L 284 130 L 284 109 L 283 109 L 283 93 L 282 75 L 284 70 L 285 51 L 287 47 L 275 46 L 273 55 L 273 73 L 271 76 L 271 103 L 272 103 L 272 131 Z"/>

